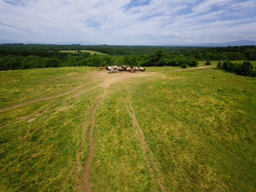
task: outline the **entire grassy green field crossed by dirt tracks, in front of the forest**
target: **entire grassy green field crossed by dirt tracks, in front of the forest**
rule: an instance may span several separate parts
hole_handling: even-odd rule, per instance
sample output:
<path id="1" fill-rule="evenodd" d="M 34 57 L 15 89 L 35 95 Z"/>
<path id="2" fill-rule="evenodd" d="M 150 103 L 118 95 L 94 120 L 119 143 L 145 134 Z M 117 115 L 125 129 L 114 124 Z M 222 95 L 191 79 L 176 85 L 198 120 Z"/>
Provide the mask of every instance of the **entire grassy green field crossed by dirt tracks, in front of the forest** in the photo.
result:
<path id="1" fill-rule="evenodd" d="M 0 191 L 256 191 L 256 79 L 216 63 L 1 71 Z"/>

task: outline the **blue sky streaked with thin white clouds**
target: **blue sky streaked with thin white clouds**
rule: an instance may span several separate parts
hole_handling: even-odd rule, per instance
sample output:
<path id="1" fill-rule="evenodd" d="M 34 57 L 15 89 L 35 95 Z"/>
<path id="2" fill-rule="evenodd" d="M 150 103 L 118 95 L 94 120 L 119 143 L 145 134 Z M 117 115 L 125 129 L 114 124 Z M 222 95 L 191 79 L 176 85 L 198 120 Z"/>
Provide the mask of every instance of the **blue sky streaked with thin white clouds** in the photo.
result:
<path id="1" fill-rule="evenodd" d="M 256 0 L 0 0 L 0 39 L 108 45 L 256 40 Z"/>

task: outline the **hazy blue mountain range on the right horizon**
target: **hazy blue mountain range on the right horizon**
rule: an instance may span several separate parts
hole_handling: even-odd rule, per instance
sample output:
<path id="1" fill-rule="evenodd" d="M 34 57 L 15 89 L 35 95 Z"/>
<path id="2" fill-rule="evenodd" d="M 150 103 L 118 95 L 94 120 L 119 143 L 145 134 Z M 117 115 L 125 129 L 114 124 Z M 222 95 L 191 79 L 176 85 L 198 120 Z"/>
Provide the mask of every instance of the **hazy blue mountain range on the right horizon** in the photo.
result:
<path id="1" fill-rule="evenodd" d="M 228 47 L 228 46 L 245 46 L 245 45 L 256 45 L 256 41 L 241 40 L 233 42 L 225 42 L 221 44 L 172 44 L 167 46 L 188 46 L 188 47 Z"/>

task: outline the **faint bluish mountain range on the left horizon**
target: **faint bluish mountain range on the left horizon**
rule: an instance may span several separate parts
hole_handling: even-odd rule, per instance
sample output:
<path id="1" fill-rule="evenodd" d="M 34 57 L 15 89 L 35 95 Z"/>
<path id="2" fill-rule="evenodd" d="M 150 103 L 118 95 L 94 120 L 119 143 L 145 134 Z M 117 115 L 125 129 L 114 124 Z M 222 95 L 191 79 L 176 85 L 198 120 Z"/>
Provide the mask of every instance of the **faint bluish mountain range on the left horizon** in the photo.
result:
<path id="1" fill-rule="evenodd" d="M 51 44 L 51 45 L 72 45 L 72 44 L 80 44 L 80 45 L 100 45 L 94 42 L 57 42 L 57 43 L 42 43 L 42 42 L 31 42 L 31 41 L 26 41 L 26 42 L 15 42 L 12 40 L 3 40 L 0 39 L 0 44 Z"/>

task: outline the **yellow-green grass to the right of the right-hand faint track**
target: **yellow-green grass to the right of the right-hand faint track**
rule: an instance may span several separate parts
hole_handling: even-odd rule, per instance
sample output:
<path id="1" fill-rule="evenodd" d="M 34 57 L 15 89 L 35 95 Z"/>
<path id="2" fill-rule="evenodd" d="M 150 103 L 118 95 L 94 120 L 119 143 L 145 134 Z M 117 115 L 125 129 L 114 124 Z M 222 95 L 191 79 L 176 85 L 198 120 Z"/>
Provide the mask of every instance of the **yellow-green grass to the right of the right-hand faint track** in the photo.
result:
<path id="1" fill-rule="evenodd" d="M 255 80 L 218 70 L 163 76 L 130 88 L 168 189 L 254 191 Z"/>

